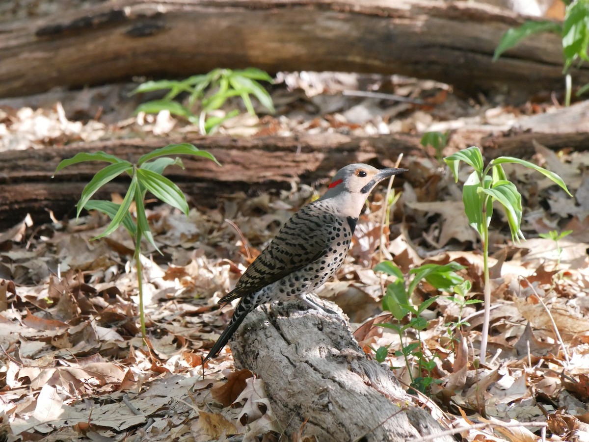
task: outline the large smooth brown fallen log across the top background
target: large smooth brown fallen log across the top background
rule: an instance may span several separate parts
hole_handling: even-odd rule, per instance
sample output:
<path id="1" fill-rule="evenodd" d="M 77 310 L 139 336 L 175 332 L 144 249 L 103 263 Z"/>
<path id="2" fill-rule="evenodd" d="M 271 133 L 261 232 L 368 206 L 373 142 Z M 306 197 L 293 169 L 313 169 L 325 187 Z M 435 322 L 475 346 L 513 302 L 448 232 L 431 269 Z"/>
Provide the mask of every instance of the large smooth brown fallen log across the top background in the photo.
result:
<path id="1" fill-rule="evenodd" d="M 557 35 L 535 35 L 492 62 L 501 35 L 521 22 L 464 1 L 102 2 L 0 24 L 0 97 L 247 66 L 403 74 L 469 91 L 561 89 Z M 589 82 L 588 68 L 572 74 Z"/>

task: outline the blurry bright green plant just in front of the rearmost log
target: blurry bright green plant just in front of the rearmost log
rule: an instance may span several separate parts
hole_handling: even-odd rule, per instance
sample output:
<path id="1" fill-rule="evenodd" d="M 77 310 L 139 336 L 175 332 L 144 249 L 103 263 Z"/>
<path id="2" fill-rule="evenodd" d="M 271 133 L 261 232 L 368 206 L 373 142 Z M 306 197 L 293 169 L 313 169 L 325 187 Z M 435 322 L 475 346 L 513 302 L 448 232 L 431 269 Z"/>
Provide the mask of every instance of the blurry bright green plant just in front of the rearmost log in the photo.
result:
<path id="1" fill-rule="evenodd" d="M 266 109 L 274 112 L 270 94 L 258 81 L 272 83 L 273 80 L 266 72 L 256 68 L 213 69 L 208 74 L 193 75 L 181 81 L 147 81 L 135 88 L 131 95 L 170 89 L 164 98 L 139 105 L 136 112 L 157 114 L 166 110 L 170 114 L 186 118 L 192 124 L 197 124 L 201 134 L 209 134 L 223 121 L 239 114 L 239 111 L 234 109 L 225 117 L 210 117 L 210 112 L 219 109 L 229 97 L 239 95 L 251 115 L 256 115 L 256 112 L 250 95 L 254 95 Z M 174 98 L 182 92 L 188 94 L 187 106 L 174 101 Z M 200 105 L 198 117 L 193 112 L 197 108 L 197 104 Z"/>

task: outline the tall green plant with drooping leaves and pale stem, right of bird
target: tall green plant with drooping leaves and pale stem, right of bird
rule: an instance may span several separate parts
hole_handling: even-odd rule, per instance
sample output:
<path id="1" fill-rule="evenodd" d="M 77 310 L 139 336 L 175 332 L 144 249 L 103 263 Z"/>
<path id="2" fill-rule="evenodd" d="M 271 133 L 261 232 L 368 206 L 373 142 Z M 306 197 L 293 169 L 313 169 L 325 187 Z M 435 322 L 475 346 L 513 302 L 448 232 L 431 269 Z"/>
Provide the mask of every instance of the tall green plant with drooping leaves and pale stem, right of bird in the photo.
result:
<path id="1" fill-rule="evenodd" d="M 473 146 L 456 152 L 454 155 L 444 158 L 448 167 L 454 173 L 455 181 L 458 182 L 458 166 L 461 161 L 474 168 L 462 187 L 462 201 L 464 202 L 464 211 L 468 217 L 469 224 L 474 228 L 481 238 L 483 247 L 483 266 L 484 266 L 484 309 L 485 315 L 482 328 L 481 340 L 481 363 L 485 363 L 487 357 L 487 337 L 489 333 L 489 311 L 491 308 L 491 286 L 489 285 L 489 223 L 493 214 L 493 202 L 497 201 L 505 209 L 511 238 L 514 242 L 524 240 L 524 234 L 521 232 L 522 205 L 521 195 L 515 184 L 507 180 L 505 171 L 501 164 L 515 163 L 528 167 L 540 172 L 545 177 L 550 178 L 564 189 L 567 194 L 571 193 L 567 189 L 564 181 L 555 174 L 545 170 L 524 159 L 514 157 L 498 157 L 489 162 L 487 167 L 484 166 L 481 151 L 478 147 Z M 571 195 L 572 197 L 573 195 Z"/>

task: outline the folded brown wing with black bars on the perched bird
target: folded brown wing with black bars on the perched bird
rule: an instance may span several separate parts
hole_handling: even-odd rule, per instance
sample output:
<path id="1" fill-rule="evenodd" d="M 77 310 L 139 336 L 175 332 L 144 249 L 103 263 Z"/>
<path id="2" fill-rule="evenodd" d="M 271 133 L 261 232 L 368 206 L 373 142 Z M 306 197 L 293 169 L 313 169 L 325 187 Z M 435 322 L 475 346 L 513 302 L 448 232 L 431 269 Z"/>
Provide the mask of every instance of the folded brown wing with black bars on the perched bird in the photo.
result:
<path id="1" fill-rule="evenodd" d="M 308 207 L 308 206 L 307 206 Z M 307 208 L 306 207 L 306 208 Z M 255 293 L 326 254 L 335 215 L 309 216 L 296 212 L 280 229 L 276 237 L 247 268 L 236 287 L 219 303 L 229 303 L 247 293 Z"/>

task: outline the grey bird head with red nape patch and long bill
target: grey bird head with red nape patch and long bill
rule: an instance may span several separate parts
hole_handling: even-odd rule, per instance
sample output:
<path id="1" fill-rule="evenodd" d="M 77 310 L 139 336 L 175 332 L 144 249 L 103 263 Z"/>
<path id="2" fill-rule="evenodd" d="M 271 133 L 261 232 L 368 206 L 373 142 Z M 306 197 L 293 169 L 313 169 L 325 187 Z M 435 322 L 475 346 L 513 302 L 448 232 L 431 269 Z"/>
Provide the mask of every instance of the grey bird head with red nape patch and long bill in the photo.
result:
<path id="1" fill-rule="evenodd" d="M 321 200 L 333 199 L 342 210 L 342 215 L 358 217 L 366 198 L 373 188 L 391 175 L 401 174 L 407 169 L 377 169 L 368 164 L 349 164 L 342 167 L 329 184 Z"/>

